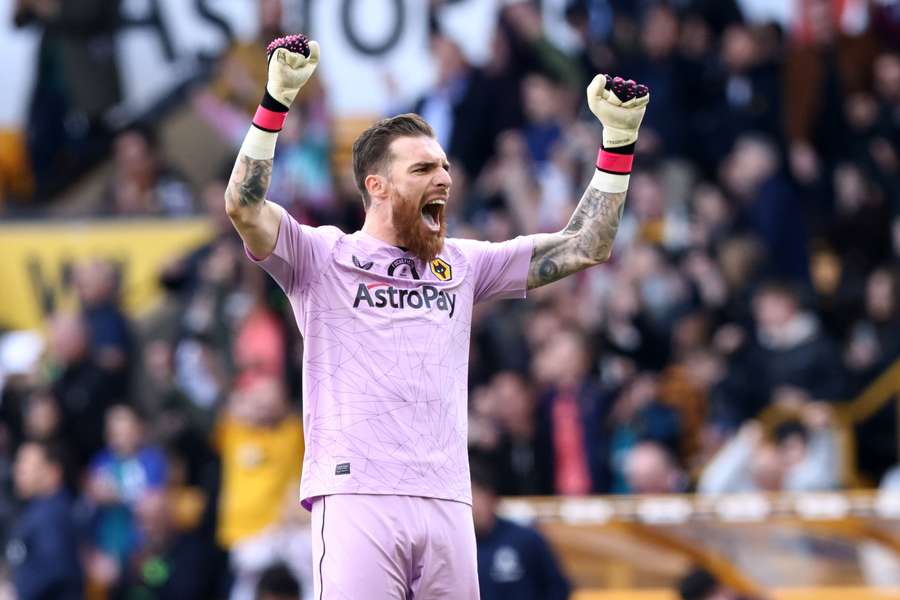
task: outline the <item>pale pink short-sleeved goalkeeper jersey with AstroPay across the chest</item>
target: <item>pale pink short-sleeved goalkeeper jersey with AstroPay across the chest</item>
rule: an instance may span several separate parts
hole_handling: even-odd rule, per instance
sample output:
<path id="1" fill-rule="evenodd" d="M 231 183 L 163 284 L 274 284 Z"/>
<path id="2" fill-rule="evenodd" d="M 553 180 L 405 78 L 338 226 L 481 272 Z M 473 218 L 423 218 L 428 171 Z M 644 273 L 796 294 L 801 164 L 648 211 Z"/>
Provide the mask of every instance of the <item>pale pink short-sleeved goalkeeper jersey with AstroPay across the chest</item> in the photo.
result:
<path id="1" fill-rule="evenodd" d="M 447 239 L 430 264 L 366 233 L 284 213 L 257 261 L 303 334 L 303 505 L 328 494 L 471 503 L 472 306 L 524 298 L 532 243 Z M 252 257 L 251 257 L 252 258 Z"/>

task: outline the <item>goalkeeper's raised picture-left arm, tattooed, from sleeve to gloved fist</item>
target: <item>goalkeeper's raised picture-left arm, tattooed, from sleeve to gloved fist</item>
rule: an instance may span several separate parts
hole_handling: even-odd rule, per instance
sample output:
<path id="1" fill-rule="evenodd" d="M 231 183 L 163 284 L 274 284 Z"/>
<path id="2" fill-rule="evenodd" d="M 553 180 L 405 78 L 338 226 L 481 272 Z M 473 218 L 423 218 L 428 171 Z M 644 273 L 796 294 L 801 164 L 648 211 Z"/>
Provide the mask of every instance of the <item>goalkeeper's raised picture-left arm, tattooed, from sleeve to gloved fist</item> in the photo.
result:
<path id="1" fill-rule="evenodd" d="M 278 241 L 282 209 L 266 200 L 272 177 L 275 142 L 288 109 L 319 62 L 319 45 L 303 36 L 274 40 L 267 49 L 269 80 L 253 124 L 238 153 L 225 189 L 225 211 L 257 258 L 265 258 Z"/>

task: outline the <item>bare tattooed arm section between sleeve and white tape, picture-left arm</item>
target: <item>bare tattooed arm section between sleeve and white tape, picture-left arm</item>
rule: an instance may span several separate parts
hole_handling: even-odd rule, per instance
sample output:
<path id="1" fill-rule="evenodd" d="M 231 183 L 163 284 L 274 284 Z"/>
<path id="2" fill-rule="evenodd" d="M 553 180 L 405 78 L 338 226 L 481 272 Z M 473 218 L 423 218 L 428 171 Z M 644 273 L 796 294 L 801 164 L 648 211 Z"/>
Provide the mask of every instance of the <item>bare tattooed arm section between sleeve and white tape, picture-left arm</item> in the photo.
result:
<path id="1" fill-rule="evenodd" d="M 266 200 L 272 160 L 251 158 L 241 152 L 225 189 L 225 212 L 250 253 L 265 258 L 278 241 L 281 211 Z"/>

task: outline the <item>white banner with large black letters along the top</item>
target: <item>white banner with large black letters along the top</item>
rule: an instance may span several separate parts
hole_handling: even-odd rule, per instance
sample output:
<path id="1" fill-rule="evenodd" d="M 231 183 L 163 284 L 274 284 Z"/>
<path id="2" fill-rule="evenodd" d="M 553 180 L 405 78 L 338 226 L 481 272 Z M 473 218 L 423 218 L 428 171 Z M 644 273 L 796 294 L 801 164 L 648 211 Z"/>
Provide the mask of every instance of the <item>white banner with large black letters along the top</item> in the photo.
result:
<path id="1" fill-rule="evenodd" d="M 15 0 L 0 0 L 0 127 L 20 128 L 34 85 L 41 29 L 14 29 Z M 559 4 L 561 0 L 555 4 Z M 319 76 L 338 116 L 406 108 L 433 81 L 428 0 L 283 0 L 284 22 L 322 46 Z M 442 29 L 476 64 L 490 52 L 501 0 L 451 0 Z M 257 0 L 122 0 L 117 34 L 123 110 L 135 116 L 227 47 L 226 30 L 256 35 Z M 547 15 L 544 15 L 545 18 Z M 263 57 L 260 57 L 263 60 Z"/>

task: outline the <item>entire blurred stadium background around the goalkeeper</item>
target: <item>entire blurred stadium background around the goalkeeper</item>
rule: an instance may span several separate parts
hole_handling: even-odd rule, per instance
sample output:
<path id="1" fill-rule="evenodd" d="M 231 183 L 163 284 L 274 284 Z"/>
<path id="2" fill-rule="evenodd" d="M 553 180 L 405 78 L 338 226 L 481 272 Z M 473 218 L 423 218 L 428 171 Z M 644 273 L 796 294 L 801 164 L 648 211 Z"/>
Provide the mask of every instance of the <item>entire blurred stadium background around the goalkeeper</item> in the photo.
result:
<path id="1" fill-rule="evenodd" d="M 900 597 L 897 0 L 0 0 L 0 597 L 311 598 L 300 339 L 223 210 L 353 231 L 416 111 L 450 233 L 556 231 L 647 84 L 612 260 L 477 308 L 482 598 Z"/>

